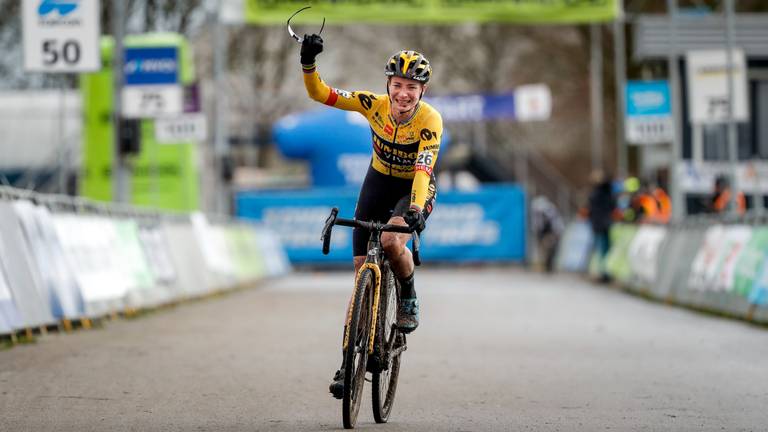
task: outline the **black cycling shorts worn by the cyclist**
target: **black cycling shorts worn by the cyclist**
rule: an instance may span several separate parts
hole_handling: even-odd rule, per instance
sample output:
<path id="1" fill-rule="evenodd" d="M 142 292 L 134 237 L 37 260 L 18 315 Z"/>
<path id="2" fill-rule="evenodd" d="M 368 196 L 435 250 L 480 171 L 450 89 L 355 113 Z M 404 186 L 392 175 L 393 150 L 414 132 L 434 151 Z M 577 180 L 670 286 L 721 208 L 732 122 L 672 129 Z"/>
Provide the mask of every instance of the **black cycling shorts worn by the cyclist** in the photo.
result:
<path id="1" fill-rule="evenodd" d="M 368 167 L 360 196 L 357 198 L 355 219 L 364 221 L 387 222 L 392 216 L 403 216 L 411 205 L 413 180 L 384 175 Z M 424 204 L 424 220 L 432 213 L 437 197 L 437 184 L 432 174 L 429 182 L 427 202 Z M 365 256 L 368 252 L 367 229 L 352 230 L 352 252 L 354 256 Z"/>

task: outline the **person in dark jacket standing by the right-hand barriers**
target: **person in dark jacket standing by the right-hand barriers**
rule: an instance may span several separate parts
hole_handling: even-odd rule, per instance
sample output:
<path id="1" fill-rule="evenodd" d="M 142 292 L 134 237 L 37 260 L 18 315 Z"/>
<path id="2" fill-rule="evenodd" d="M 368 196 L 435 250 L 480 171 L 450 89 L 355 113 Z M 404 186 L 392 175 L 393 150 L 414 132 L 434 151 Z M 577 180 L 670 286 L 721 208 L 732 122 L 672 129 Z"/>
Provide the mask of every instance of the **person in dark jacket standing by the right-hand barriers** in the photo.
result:
<path id="1" fill-rule="evenodd" d="M 591 175 L 592 192 L 589 194 L 589 223 L 592 226 L 594 251 L 598 256 L 598 271 L 600 281 L 610 281 L 605 268 L 605 257 L 611 248 L 610 231 L 613 224 L 613 214 L 616 209 L 616 198 L 609 176 L 601 171 Z"/>

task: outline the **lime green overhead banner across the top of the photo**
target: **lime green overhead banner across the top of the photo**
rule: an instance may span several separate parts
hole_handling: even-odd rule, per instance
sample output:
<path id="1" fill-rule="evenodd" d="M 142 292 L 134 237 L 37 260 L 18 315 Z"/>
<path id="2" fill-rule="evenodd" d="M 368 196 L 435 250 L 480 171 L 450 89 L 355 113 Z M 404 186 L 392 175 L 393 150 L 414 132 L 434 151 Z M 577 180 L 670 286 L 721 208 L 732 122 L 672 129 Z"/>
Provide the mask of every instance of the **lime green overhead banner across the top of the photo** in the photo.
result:
<path id="1" fill-rule="evenodd" d="M 618 15 L 617 0 L 245 0 L 245 21 L 285 24 L 304 6 L 312 8 L 297 23 L 587 23 Z"/>

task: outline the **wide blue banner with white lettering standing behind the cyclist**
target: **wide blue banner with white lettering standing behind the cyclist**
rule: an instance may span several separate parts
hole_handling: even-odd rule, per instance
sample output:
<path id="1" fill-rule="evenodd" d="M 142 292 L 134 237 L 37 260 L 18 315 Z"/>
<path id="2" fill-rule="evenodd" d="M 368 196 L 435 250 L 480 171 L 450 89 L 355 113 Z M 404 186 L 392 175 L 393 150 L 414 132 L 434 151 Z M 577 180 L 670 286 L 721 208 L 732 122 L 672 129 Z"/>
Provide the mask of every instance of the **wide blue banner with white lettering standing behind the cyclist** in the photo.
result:
<path id="1" fill-rule="evenodd" d="M 352 258 L 352 230 L 335 227 L 331 253 L 321 252 L 320 233 L 332 207 L 352 218 L 355 188 L 319 188 L 288 192 L 242 192 L 238 217 L 275 230 L 294 264 L 343 264 Z M 439 192 L 422 233 L 424 261 L 522 261 L 526 251 L 525 193 L 515 185 L 477 191 Z"/>

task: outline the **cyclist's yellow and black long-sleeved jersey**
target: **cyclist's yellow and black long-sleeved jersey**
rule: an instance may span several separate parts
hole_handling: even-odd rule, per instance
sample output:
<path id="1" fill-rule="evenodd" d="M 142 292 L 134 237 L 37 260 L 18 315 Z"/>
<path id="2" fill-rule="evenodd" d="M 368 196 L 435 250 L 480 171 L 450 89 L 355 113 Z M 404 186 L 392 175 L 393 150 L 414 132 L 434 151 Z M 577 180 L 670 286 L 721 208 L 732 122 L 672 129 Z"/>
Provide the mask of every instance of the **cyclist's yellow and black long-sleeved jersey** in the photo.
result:
<path id="1" fill-rule="evenodd" d="M 411 205 L 423 209 L 434 194 L 430 180 L 443 135 L 440 113 L 421 101 L 408 122 L 397 124 L 389 111 L 388 95 L 329 87 L 314 66 L 304 66 L 304 86 L 318 102 L 365 116 L 373 138 L 371 167 L 384 175 L 413 179 Z"/>

